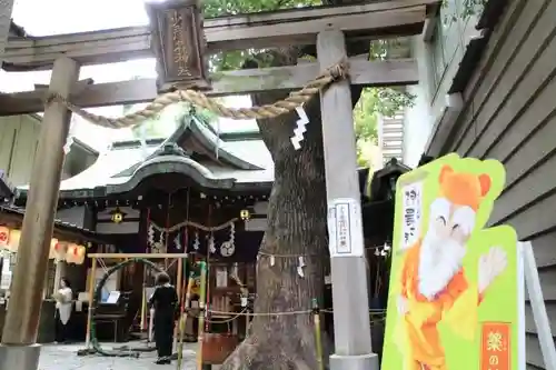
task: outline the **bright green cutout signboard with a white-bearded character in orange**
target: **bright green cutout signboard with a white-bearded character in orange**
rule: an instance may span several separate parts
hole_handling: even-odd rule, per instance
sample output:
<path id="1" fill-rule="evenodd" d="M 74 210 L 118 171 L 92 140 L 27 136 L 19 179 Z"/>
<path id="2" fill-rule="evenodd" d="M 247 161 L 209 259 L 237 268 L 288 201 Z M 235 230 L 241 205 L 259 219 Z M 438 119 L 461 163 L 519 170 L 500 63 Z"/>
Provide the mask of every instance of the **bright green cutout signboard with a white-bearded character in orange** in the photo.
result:
<path id="1" fill-rule="evenodd" d="M 383 369 L 522 369 L 517 236 L 486 228 L 505 177 L 449 154 L 398 179 Z"/>

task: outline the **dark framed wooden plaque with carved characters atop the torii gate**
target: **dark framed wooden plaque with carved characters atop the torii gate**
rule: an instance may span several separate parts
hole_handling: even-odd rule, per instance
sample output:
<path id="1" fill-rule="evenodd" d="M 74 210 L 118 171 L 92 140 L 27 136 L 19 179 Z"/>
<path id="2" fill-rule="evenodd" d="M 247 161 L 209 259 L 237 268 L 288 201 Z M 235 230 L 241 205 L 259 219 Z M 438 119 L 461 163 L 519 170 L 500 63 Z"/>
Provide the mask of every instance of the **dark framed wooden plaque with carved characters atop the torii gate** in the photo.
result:
<path id="1" fill-rule="evenodd" d="M 209 88 L 202 14 L 197 1 L 150 2 L 147 12 L 159 90 Z"/>

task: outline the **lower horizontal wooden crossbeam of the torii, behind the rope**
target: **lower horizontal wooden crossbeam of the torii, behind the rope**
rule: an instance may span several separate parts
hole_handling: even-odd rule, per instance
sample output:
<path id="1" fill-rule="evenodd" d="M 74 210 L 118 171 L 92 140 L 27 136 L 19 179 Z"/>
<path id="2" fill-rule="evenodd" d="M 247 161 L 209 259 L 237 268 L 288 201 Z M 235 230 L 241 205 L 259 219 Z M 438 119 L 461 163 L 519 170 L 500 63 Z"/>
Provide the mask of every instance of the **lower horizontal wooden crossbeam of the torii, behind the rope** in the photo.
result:
<path id="1" fill-rule="evenodd" d="M 418 82 L 417 62 L 413 59 L 391 61 L 349 60 L 351 83 L 368 87 L 415 84 Z M 247 69 L 214 74 L 212 91 L 208 96 L 246 94 L 270 90 L 301 88 L 319 73 L 317 63 L 291 67 Z M 0 94 L 0 116 L 41 112 L 46 90 Z M 158 96 L 155 79 L 81 86 L 70 101 L 78 107 L 93 108 L 152 101 Z"/>

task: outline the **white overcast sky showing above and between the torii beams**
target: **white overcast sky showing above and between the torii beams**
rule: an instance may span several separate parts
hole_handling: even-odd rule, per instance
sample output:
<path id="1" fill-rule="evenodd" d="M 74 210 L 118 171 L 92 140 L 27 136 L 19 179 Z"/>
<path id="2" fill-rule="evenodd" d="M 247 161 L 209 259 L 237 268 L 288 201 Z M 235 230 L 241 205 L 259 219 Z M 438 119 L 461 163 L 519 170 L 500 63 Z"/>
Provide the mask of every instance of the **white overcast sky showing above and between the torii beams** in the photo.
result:
<path id="1" fill-rule="evenodd" d="M 109 11 L 107 11 L 109 10 Z M 12 18 L 32 36 L 49 36 L 97 31 L 111 28 L 146 26 L 148 17 L 143 0 L 16 0 Z M 50 71 L 8 73 L 0 72 L 0 90 L 3 92 L 29 91 L 34 83 L 49 83 Z M 155 59 L 138 59 L 103 66 L 85 66 L 80 79 L 92 78 L 96 83 L 129 80 L 133 77 L 155 78 Z M 230 107 L 249 107 L 249 97 L 230 97 Z M 141 106 L 138 107 L 138 109 Z M 109 117 L 121 116 L 122 107 L 90 109 L 91 112 Z M 97 150 L 108 148 L 110 142 L 131 139 L 129 129 L 111 130 L 73 119 L 70 134 Z M 219 121 L 222 132 L 256 130 L 254 121 Z"/>

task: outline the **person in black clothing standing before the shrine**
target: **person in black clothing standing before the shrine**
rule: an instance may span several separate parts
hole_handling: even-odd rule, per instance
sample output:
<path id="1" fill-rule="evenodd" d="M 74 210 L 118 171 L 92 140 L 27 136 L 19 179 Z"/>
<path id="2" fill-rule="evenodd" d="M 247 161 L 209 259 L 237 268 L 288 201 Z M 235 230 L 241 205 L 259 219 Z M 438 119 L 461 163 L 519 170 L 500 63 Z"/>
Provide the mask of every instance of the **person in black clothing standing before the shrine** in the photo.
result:
<path id="1" fill-rule="evenodd" d="M 173 344 L 173 318 L 178 304 L 176 289 L 170 286 L 170 277 L 161 272 L 156 279 L 157 288 L 149 300 L 155 307 L 155 342 L 157 344 L 158 364 L 171 362 Z"/>

